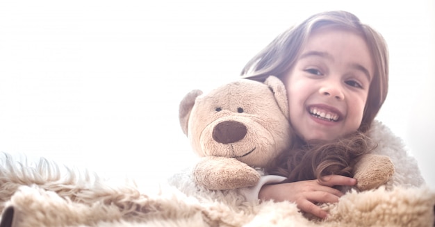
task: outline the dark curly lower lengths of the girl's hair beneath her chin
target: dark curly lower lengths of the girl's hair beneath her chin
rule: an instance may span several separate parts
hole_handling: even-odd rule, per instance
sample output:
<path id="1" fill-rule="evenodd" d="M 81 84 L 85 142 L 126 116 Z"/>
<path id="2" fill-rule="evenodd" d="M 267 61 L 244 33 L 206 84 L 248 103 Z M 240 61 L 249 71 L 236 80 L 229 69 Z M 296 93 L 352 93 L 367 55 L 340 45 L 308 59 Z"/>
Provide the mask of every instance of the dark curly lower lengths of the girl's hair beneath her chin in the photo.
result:
<path id="1" fill-rule="evenodd" d="M 321 179 L 331 174 L 349 176 L 361 155 L 375 149 L 370 138 L 361 132 L 332 141 L 300 141 L 288 152 L 282 152 L 265 169 L 268 174 L 285 176 L 286 182 Z"/>

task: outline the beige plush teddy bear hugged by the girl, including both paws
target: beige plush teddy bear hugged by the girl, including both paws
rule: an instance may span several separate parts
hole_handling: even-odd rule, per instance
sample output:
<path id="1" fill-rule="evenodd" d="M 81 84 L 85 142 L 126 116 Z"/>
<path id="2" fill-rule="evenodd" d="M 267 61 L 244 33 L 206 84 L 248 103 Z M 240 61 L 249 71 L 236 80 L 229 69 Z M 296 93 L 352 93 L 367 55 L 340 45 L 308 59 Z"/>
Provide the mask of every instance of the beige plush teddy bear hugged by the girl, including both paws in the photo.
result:
<path id="1" fill-rule="evenodd" d="M 275 76 L 264 83 L 240 78 L 206 94 L 192 90 L 180 103 L 179 121 L 200 157 L 192 178 L 208 190 L 256 185 L 257 170 L 288 151 L 295 137 L 286 89 Z M 363 155 L 354 169 L 359 190 L 379 187 L 394 173 L 385 155 Z"/>

